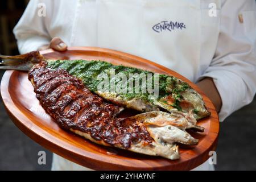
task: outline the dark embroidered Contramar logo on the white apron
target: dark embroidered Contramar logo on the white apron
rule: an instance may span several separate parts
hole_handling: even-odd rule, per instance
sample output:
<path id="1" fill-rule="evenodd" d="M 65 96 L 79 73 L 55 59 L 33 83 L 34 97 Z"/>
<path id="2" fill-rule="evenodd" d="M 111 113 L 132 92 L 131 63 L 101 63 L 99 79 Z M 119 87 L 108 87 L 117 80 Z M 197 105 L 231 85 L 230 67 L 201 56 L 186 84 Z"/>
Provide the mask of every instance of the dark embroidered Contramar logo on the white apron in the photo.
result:
<path id="1" fill-rule="evenodd" d="M 175 29 L 179 29 L 179 30 L 182 30 L 183 28 L 186 28 L 185 24 L 182 23 L 182 22 L 168 22 L 168 21 L 162 21 L 158 24 L 155 24 L 152 29 L 155 31 L 155 32 L 162 32 L 162 31 L 173 31 Z"/>

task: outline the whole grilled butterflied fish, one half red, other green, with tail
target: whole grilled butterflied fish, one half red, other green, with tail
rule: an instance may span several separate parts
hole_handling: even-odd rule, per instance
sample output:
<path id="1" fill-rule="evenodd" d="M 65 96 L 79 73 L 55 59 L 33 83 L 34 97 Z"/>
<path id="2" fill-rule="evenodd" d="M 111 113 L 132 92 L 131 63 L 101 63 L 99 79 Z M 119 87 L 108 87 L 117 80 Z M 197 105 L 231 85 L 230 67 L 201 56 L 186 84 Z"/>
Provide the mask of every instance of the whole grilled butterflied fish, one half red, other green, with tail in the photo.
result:
<path id="1" fill-rule="evenodd" d="M 45 60 L 38 52 L 0 58 L 3 59 L 1 69 L 29 70 L 28 78 L 44 110 L 61 128 L 92 142 L 179 159 L 177 143 L 199 142 L 186 130 L 204 131 L 195 119 L 209 115 L 200 94 L 175 77 L 159 75 L 159 97 L 150 98 L 150 93 L 123 94 L 96 89 L 98 76 L 108 75 L 112 69 L 117 74 L 154 75 L 141 69 L 104 61 Z M 115 78 L 112 77 L 109 84 L 117 84 L 113 82 Z M 120 118 L 118 114 L 123 107 L 142 113 Z"/>

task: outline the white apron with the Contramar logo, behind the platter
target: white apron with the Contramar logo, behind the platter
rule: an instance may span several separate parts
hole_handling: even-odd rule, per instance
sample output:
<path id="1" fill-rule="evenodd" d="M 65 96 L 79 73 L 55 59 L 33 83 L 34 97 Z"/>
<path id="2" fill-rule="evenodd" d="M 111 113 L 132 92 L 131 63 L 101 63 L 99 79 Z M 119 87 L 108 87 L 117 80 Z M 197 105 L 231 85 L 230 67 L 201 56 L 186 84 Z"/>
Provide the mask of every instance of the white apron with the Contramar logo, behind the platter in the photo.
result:
<path id="1" fill-rule="evenodd" d="M 195 82 L 217 44 L 219 18 L 208 15 L 209 2 L 220 7 L 219 1 L 200 0 L 81 0 L 68 45 L 131 53 Z M 208 55 L 201 53 L 202 47 Z M 53 155 L 52 169 L 87 168 Z M 205 163 L 196 169 L 213 166 Z"/>

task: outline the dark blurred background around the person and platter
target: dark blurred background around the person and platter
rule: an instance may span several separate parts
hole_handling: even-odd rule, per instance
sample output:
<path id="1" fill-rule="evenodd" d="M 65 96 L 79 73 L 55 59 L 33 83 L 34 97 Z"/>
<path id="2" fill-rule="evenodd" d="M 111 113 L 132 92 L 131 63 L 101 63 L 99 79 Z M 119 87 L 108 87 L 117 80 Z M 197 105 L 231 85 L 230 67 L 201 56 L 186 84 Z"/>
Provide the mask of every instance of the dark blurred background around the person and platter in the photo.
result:
<path id="1" fill-rule="evenodd" d="M 0 1 L 0 53 L 17 55 L 12 30 L 28 1 Z M 255 60 L 256 61 L 256 60 Z M 2 78 L 4 71 L 0 71 Z M 220 123 L 217 170 L 256 169 L 256 98 Z M 38 152 L 46 151 L 46 165 L 38 164 Z M 52 153 L 22 133 L 10 120 L 0 101 L 0 170 L 49 170 Z"/>

